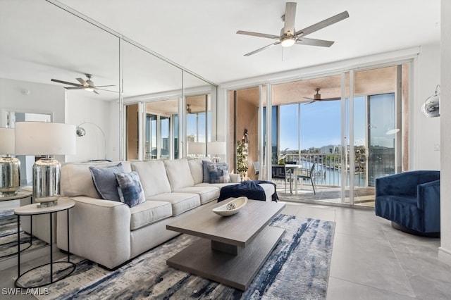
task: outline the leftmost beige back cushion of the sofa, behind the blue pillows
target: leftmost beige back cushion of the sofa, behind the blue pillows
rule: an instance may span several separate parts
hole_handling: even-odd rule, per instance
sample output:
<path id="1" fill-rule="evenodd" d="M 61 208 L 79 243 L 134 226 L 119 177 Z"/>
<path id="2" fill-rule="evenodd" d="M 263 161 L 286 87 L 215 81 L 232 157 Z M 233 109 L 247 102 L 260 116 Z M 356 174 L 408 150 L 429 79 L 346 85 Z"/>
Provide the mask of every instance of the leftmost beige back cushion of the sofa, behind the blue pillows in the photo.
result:
<path id="1" fill-rule="evenodd" d="M 88 196 L 100 199 L 100 195 L 92 182 L 89 166 L 108 167 L 116 163 L 63 163 L 61 165 L 61 194 L 63 196 Z M 130 172 L 130 163 L 123 161 L 125 172 Z"/>

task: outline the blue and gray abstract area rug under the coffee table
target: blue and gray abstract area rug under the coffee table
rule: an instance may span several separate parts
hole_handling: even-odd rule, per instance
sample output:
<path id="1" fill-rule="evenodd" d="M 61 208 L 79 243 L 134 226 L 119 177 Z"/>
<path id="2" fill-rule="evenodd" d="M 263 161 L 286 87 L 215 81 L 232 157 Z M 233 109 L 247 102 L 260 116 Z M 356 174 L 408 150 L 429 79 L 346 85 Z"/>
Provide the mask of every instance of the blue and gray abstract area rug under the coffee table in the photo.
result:
<path id="1" fill-rule="evenodd" d="M 245 292 L 168 267 L 197 239 L 179 235 L 112 272 L 72 256 L 75 272 L 39 299 L 326 299 L 335 223 L 278 215 L 270 225 L 285 233 Z"/>

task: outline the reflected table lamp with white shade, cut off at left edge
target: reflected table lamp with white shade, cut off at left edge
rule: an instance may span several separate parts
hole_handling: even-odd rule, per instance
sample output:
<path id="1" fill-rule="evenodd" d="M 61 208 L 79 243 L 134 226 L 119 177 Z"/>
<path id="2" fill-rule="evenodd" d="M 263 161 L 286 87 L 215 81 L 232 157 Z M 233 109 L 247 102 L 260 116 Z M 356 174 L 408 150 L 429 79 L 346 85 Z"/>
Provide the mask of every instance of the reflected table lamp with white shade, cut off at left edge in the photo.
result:
<path id="1" fill-rule="evenodd" d="M 13 196 L 20 188 L 20 161 L 14 154 L 14 128 L 0 128 L 0 197 Z"/>

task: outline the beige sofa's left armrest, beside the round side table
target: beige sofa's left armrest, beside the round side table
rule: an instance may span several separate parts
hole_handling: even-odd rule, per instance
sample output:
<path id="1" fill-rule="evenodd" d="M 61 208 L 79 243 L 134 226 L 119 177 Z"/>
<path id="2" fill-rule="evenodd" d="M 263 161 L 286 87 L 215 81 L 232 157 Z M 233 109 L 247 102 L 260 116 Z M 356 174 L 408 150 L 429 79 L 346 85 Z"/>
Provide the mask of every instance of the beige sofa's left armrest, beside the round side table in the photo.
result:
<path id="1" fill-rule="evenodd" d="M 130 208 L 121 202 L 75 196 L 69 210 L 70 252 L 114 268 L 130 259 Z M 67 213 L 58 213 L 57 246 L 67 251 Z"/>

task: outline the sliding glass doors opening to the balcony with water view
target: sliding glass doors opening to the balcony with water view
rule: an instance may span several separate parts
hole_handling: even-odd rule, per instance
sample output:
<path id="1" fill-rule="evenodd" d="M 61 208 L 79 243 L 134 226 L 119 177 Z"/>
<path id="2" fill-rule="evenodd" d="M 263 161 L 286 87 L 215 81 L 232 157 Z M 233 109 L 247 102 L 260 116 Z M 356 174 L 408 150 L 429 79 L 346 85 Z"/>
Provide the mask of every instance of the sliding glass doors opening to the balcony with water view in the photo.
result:
<path id="1" fill-rule="evenodd" d="M 408 62 L 234 95 L 230 139 L 245 123 L 237 107 L 258 118 L 259 142 L 249 151 L 264 163 L 259 179 L 275 182 L 287 199 L 373 206 L 376 178 L 408 170 Z M 290 175 L 287 164 L 296 165 Z"/>

